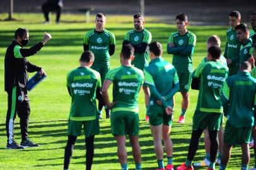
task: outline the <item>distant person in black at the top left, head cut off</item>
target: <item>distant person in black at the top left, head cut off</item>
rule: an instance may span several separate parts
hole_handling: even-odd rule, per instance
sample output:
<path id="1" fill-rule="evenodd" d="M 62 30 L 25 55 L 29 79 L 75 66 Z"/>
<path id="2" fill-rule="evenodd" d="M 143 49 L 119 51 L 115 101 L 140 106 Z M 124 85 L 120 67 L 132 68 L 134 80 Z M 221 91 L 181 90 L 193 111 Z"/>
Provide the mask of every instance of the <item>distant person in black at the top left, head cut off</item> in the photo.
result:
<path id="1" fill-rule="evenodd" d="M 50 11 L 56 11 L 56 23 L 59 23 L 59 18 L 61 18 L 61 8 L 63 7 L 62 1 L 63 0 L 47 0 L 46 3 L 42 4 L 42 11 L 45 17 L 44 23 L 50 23 Z"/>

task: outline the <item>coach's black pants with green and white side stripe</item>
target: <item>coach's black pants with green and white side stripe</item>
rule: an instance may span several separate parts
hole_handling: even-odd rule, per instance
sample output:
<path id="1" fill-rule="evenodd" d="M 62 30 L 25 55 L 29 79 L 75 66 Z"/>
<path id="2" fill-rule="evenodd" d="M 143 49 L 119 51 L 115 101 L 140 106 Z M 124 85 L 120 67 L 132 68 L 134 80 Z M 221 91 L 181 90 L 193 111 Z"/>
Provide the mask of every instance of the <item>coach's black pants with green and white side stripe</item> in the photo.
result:
<path id="1" fill-rule="evenodd" d="M 21 139 L 28 139 L 28 120 L 30 116 L 30 100 L 26 89 L 13 87 L 8 91 L 8 110 L 6 114 L 7 142 L 11 144 L 14 140 L 14 128 L 16 114 L 20 118 Z"/>

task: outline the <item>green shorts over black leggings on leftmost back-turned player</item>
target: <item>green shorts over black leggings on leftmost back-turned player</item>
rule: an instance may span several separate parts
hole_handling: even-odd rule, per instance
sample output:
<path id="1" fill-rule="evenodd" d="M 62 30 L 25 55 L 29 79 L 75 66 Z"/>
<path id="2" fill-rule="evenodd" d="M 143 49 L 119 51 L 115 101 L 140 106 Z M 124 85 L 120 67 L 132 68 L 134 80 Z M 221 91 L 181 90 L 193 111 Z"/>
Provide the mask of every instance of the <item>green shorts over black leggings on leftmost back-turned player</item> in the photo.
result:
<path id="1" fill-rule="evenodd" d="M 69 120 L 67 134 L 73 136 L 81 135 L 83 126 L 84 136 L 90 137 L 91 135 L 98 135 L 100 133 L 100 123 L 98 118 L 88 121 L 74 121 Z"/>

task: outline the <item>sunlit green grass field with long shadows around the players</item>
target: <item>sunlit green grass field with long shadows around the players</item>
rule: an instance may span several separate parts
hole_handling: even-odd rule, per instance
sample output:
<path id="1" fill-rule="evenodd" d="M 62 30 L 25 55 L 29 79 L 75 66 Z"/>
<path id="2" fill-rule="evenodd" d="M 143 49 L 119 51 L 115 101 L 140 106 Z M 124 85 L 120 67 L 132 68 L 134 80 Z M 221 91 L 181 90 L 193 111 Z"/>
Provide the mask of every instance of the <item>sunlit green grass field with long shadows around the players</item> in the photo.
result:
<path id="1" fill-rule="evenodd" d="M 4 18 L 5 14 L 0 14 Z M 80 15 L 63 15 L 62 22 L 55 25 L 42 24 L 44 18 L 41 14 L 16 14 L 18 21 L 1 21 L 0 26 L 0 169 L 62 169 L 64 147 L 67 140 L 67 118 L 71 99 L 66 89 L 66 74 L 71 69 L 78 67 L 78 59 L 83 52 L 83 35 L 94 28 L 94 23 L 84 23 L 85 17 Z M 55 16 L 54 16 L 55 18 Z M 119 53 L 125 33 L 133 29 L 130 16 L 108 16 L 107 30 L 115 34 L 117 45 L 115 54 L 110 60 L 111 68 L 120 65 Z M 93 18 L 91 18 L 93 20 Z M 170 33 L 176 31 L 175 25 L 167 25 L 156 18 L 146 18 L 146 29 L 151 31 L 153 40 L 163 44 L 166 51 L 166 42 Z M 44 67 L 48 77 L 37 88 L 29 93 L 31 101 L 30 138 L 40 144 L 38 148 L 25 150 L 7 150 L 5 119 L 7 110 L 7 95 L 4 92 L 4 55 L 6 48 L 13 40 L 13 35 L 18 27 L 26 27 L 30 30 L 29 46 L 42 40 L 44 31 L 52 35 L 52 40 L 45 45 L 38 54 L 29 60 L 36 65 Z M 202 58 L 206 56 L 206 39 L 209 35 L 219 35 L 223 40 L 221 47 L 224 50 L 226 26 L 189 26 L 190 31 L 197 36 L 197 44 L 193 56 L 194 69 Z M 164 52 L 163 57 L 172 61 L 172 56 Z M 32 74 L 30 74 L 32 76 Z M 190 90 L 190 106 L 187 111 L 186 123 L 179 125 L 173 123 L 171 138 L 173 140 L 173 162 L 175 167 L 185 161 L 192 130 L 192 115 L 197 102 L 197 91 Z M 176 106 L 174 118 L 177 120 L 180 113 L 180 94 L 175 95 Z M 144 94 L 139 94 L 140 109 L 140 145 L 142 150 L 143 169 L 156 169 L 156 158 L 153 148 L 153 138 L 149 130 L 148 122 L 144 121 Z M 103 111 L 104 113 L 104 111 Z M 17 116 L 18 117 L 18 116 Z M 117 147 L 110 134 L 110 120 L 100 120 L 100 135 L 95 139 L 95 157 L 92 169 L 120 169 L 117 160 Z M 16 119 L 15 139 L 20 142 L 19 118 Z M 204 159 L 204 144 L 199 150 L 194 161 Z M 134 169 L 131 156 L 131 147 L 127 140 L 128 162 L 130 169 Z M 251 155 L 252 150 L 251 150 Z M 235 147 L 232 151 L 228 169 L 240 169 L 241 149 Z M 166 160 L 165 160 L 166 162 Z M 250 161 L 253 165 L 254 159 Z M 84 169 L 85 146 L 84 137 L 78 137 L 74 147 L 73 159 L 70 169 Z M 217 166 L 218 168 L 218 166 Z M 199 168 L 199 169 L 206 169 Z"/>

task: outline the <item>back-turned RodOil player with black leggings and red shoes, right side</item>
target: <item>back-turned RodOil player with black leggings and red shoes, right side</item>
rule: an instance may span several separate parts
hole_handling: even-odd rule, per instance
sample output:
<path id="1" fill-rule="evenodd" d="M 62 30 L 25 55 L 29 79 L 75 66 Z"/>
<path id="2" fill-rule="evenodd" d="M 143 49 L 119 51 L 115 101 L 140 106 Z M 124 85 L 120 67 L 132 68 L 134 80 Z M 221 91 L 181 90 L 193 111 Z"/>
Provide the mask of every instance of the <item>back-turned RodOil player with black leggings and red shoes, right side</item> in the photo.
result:
<path id="1" fill-rule="evenodd" d="M 200 64 L 192 74 L 192 88 L 199 88 L 199 96 L 193 116 L 187 161 L 177 167 L 177 170 L 194 169 L 192 161 L 199 145 L 199 139 L 206 128 L 211 141 L 210 164 L 207 169 L 215 168 L 218 151 L 217 135 L 223 118 L 221 91 L 224 81 L 228 77 L 228 67 L 219 62 L 221 48 L 212 46 L 208 48 L 207 52 L 208 62 Z"/>

